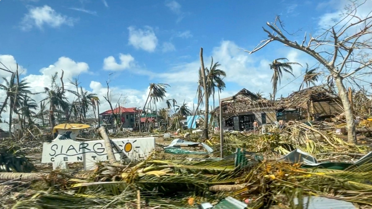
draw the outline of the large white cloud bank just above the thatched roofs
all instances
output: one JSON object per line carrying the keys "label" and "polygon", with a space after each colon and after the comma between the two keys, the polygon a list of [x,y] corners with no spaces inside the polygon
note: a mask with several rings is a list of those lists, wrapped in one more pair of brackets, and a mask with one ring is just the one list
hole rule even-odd
{"label": "large white cloud bank just above the thatched roofs", "polygon": [[[212,53],[210,54],[213,56],[214,62],[219,62],[221,64],[219,69],[224,70],[227,74],[224,81],[227,83],[227,90],[229,90],[228,92],[230,93],[230,96],[243,88],[253,92],[260,90],[268,96],[268,93],[272,92],[272,85],[270,83],[272,71],[269,67],[272,60],[255,57],[256,55],[249,55],[237,48],[240,47],[232,41],[222,41],[221,45],[213,48]],[[310,66],[314,64],[314,61],[311,60],[310,57],[307,57],[304,53],[301,54],[294,49],[284,48],[278,53],[282,54],[280,57],[288,58],[289,62],[299,62],[303,66],[305,66],[305,62],[308,62]],[[211,63],[210,55],[208,55],[207,51],[204,50],[204,63],[205,67],[208,68],[210,68]],[[162,83],[169,83],[173,88],[175,86],[176,88],[179,88],[179,86],[188,88],[191,97],[195,97],[199,67],[199,58],[195,58],[195,61],[193,62],[177,63],[171,67],[170,71],[156,74],[154,76],[160,78]],[[278,89],[281,90],[278,91],[277,95],[287,95],[292,91],[298,90],[299,84],[302,80],[302,76],[300,75],[304,71],[304,68],[301,66],[294,66],[293,68],[294,75],[296,77],[299,76],[299,78],[288,84],[290,81],[294,80],[294,77],[284,73],[282,85],[278,86]]]}

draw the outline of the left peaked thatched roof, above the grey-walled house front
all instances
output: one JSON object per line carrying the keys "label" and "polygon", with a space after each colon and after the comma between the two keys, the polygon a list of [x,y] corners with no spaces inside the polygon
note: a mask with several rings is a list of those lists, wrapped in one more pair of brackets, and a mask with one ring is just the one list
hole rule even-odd
{"label": "left peaked thatched roof, above the grey-walled house front", "polygon": [[[260,99],[256,94],[247,89],[242,89],[234,96],[222,100],[223,114],[275,109],[275,102]],[[219,107],[214,109],[214,112],[218,113],[218,111]]]}

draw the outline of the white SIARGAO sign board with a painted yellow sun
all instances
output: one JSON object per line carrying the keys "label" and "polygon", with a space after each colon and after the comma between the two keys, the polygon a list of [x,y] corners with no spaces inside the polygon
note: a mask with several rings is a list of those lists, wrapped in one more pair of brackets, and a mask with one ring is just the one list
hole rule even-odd
{"label": "white SIARGAO sign board with a painted yellow sun", "polygon": [[[71,137],[72,138],[72,137]],[[66,168],[67,163],[84,162],[86,170],[94,169],[98,161],[108,160],[103,140],[75,141],[60,135],[44,142],[41,163],[53,163],[53,169]],[[111,139],[116,160],[142,160],[155,148],[155,137]]]}

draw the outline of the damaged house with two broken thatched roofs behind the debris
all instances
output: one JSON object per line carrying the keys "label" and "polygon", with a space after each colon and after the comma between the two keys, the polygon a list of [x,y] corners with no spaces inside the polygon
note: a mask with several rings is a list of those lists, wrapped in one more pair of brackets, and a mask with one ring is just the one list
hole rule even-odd
{"label": "damaged house with two broken thatched roofs behind the debris", "polygon": [[[331,118],[343,112],[339,97],[322,86],[296,91],[281,100],[261,98],[247,89],[231,97],[221,99],[222,129],[235,131],[253,130],[253,122],[259,125],[280,119],[298,120]],[[217,107],[214,112],[219,112]]]}

